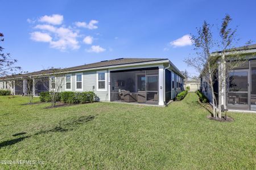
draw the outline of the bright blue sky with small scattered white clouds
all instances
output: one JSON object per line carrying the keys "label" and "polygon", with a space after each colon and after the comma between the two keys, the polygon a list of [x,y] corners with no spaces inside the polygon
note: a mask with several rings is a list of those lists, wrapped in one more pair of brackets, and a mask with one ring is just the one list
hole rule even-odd
{"label": "bright blue sky with small scattered white clouds", "polygon": [[144,57],[169,58],[178,69],[195,74],[183,62],[193,53],[185,35],[195,33],[203,20],[220,25],[225,14],[238,25],[238,45],[256,40],[255,0],[9,0],[1,6],[2,45],[24,71]]}

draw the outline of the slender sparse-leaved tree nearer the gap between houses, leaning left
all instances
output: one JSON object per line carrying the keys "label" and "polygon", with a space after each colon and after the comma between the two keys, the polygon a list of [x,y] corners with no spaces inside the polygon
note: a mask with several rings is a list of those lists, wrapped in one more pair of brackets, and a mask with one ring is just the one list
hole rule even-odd
{"label": "slender sparse-leaved tree nearer the gap between houses, leaning left", "polygon": [[188,66],[194,67],[205,80],[209,82],[212,91],[213,117],[216,117],[216,97],[213,91],[214,76],[217,71],[216,57],[211,57],[211,50],[214,42],[210,25],[204,21],[201,28],[197,28],[197,35],[193,35],[191,40],[195,46],[196,57],[187,58],[185,62]]}

